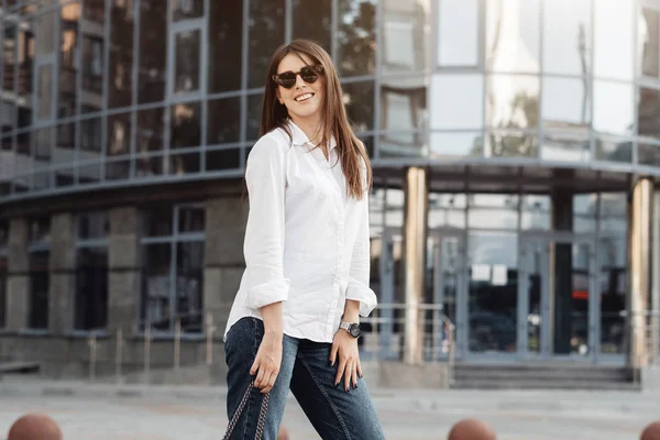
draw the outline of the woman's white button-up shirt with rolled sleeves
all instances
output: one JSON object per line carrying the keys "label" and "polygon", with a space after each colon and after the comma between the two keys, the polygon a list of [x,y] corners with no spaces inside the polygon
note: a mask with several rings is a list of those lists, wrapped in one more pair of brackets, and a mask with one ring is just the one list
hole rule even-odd
{"label": "woman's white button-up shirt with rolled sleeves", "polygon": [[285,334],[332,342],[346,299],[360,301],[363,317],[376,307],[366,185],[362,199],[349,198],[334,140],[327,160],[289,128],[293,142],[276,129],[248,157],[246,267],[224,337],[242,317],[261,319],[261,307],[283,301]]}

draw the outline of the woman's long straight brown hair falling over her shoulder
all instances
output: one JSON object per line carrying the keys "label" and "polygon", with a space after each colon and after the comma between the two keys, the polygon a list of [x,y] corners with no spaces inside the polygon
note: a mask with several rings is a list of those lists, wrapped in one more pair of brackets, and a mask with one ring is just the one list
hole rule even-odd
{"label": "woman's long straight brown hair falling over her shoulder", "polygon": [[[330,55],[318,44],[308,40],[294,40],[289,44],[279,46],[271,58],[266,76],[266,89],[262,108],[261,133],[264,135],[274,129],[283,129],[292,138],[287,122],[289,119],[287,109],[277,100],[277,84],[272,79],[277,74],[277,67],[282,59],[288,54],[294,54],[302,59],[306,55],[314,64],[323,67],[322,77],[326,85],[326,94],[322,103],[321,141],[319,145],[328,143],[331,136],[337,141],[339,161],[346,179],[346,190],[350,197],[361,199],[364,190],[371,187],[372,169],[371,162],[362,142],[355,136],[346,117],[343,106],[343,92],[339,82],[339,75]],[[363,170],[361,158],[366,168]],[[362,173],[366,173],[363,176]],[[366,179],[364,179],[366,177]],[[366,188],[363,182],[366,180]]]}

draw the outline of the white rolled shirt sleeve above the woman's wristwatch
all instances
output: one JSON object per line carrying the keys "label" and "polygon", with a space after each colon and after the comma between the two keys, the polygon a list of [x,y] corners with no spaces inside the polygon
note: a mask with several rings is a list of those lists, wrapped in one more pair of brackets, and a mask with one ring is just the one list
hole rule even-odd
{"label": "white rolled shirt sleeve above the woman's wristwatch", "polygon": [[369,287],[371,275],[369,191],[365,191],[358,205],[358,238],[351,257],[346,299],[360,301],[360,316],[367,317],[378,302],[376,294]]}

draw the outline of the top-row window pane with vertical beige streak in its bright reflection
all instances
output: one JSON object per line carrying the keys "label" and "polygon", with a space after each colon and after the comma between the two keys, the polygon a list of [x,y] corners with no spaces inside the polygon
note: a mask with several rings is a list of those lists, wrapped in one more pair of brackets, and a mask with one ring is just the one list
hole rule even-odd
{"label": "top-row window pane with vertical beige streak in its bright reflection", "polygon": [[539,72],[540,3],[540,0],[486,2],[486,69]]}

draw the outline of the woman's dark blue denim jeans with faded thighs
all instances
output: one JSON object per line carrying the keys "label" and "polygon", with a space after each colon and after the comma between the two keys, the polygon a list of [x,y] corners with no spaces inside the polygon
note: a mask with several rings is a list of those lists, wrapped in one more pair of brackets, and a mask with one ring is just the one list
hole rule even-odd
{"label": "woman's dark blue denim jeans with faded thighs", "polygon": [[[257,318],[242,318],[227,334],[227,416],[230,420],[253,380],[250,367],[263,336],[264,326]],[[277,438],[289,388],[322,439],[385,439],[364,380],[358,378],[358,388],[349,392],[344,389],[343,377],[334,387],[339,362],[330,365],[331,346],[284,336],[282,366],[268,393],[264,440]],[[260,389],[252,389],[231,439],[255,438],[263,398]]]}

